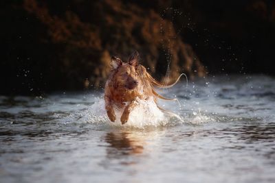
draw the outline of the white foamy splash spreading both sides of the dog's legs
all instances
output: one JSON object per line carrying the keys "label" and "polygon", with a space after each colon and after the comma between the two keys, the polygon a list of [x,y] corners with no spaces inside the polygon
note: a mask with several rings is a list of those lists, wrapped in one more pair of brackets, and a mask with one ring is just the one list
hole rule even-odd
{"label": "white foamy splash spreading both sides of the dog's legs", "polygon": [[[182,123],[200,125],[202,123],[208,123],[214,121],[207,114],[201,112],[193,112],[186,116],[179,117],[173,112],[163,112],[157,108],[157,104],[153,100],[153,97],[148,100],[136,99],[135,108],[130,112],[129,120],[122,125],[120,121],[122,110],[115,110],[116,119],[115,122],[111,122],[107,117],[105,110],[105,103],[103,97],[97,97],[93,105],[83,110],[77,110],[72,112],[66,117],[58,117],[58,121],[62,123],[94,123],[97,125],[107,125],[114,127],[133,127],[144,129],[146,127],[162,127],[162,126],[173,126]],[[175,103],[171,103],[171,105]],[[175,108],[174,108],[175,109]]]}

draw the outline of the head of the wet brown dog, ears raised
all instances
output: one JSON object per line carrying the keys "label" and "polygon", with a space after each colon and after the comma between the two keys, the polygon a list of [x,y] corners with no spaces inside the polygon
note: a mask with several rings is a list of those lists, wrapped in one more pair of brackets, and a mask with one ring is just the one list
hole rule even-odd
{"label": "head of the wet brown dog, ears raised", "polygon": [[111,67],[115,71],[113,81],[116,86],[133,90],[141,82],[139,54],[137,51],[131,54],[127,63],[122,62],[120,58],[111,57]]}

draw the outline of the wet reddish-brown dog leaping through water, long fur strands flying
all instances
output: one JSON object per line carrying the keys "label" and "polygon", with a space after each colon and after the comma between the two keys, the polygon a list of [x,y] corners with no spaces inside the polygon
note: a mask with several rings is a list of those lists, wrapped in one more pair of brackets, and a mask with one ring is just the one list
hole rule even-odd
{"label": "wet reddish-brown dog leaping through water, long fur strands flying", "polygon": [[[177,79],[177,81],[179,78]],[[174,83],[176,84],[177,81]],[[165,86],[160,84],[147,73],[144,66],[139,64],[139,55],[135,51],[129,58],[128,63],[123,63],[120,58],[111,58],[111,74],[105,85],[105,109],[111,121],[115,121],[115,112],[113,108],[123,109],[120,121],[126,123],[129,114],[135,108],[135,99],[149,99],[153,97],[154,101],[157,98],[166,99],[157,94],[153,86],[159,88],[170,88],[174,84]],[[174,99],[166,99],[174,100]]]}

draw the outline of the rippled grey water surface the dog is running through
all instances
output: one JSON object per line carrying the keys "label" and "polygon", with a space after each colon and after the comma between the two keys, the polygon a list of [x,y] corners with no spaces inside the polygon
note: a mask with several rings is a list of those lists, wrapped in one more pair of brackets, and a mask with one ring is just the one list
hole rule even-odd
{"label": "rippled grey water surface the dog is running through", "polygon": [[0,97],[0,182],[275,182],[274,77],[201,78],[162,94],[177,96],[160,106],[179,117],[150,104],[124,126],[98,92]]}

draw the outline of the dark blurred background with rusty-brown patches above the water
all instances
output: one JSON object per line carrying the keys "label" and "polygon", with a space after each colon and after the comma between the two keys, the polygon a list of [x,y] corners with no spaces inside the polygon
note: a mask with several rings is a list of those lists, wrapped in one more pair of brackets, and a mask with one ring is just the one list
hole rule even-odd
{"label": "dark blurred background with rusty-brown patches above the water", "polygon": [[275,1],[1,1],[2,95],[102,88],[134,50],[158,80],[274,75]]}

